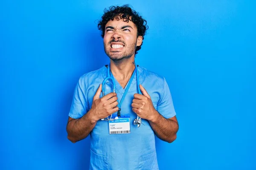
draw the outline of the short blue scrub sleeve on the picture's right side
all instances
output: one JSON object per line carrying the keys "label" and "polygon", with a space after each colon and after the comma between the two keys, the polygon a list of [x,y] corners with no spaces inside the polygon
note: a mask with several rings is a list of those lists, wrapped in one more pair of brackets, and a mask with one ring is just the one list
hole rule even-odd
{"label": "short blue scrub sleeve on the picture's right side", "polygon": [[172,95],[169,90],[169,86],[166,82],[166,79],[163,78],[164,85],[163,85],[163,92],[160,96],[160,99],[157,103],[157,111],[166,119],[172,118],[176,115],[173,102],[172,102]]}

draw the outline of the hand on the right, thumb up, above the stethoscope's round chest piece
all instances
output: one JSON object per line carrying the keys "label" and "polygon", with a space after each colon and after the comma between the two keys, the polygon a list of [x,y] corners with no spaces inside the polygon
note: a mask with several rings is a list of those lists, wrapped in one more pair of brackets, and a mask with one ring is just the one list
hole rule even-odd
{"label": "hand on the right, thumb up, above the stethoscope's round chest piece", "polygon": [[134,99],[131,104],[132,110],[140,116],[140,118],[151,121],[157,116],[158,112],[154,108],[151,97],[142,85],[140,85],[140,91],[143,95],[134,94]]}

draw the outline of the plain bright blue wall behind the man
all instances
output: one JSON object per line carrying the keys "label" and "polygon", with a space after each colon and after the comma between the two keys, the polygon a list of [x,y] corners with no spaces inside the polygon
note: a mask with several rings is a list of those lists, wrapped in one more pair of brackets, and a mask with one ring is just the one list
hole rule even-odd
{"label": "plain bright blue wall behind the man", "polygon": [[68,112],[79,77],[109,61],[97,20],[124,3],[149,26],[136,62],[166,77],[180,124],[157,139],[160,169],[256,169],[253,0],[1,1],[0,169],[88,168]]}

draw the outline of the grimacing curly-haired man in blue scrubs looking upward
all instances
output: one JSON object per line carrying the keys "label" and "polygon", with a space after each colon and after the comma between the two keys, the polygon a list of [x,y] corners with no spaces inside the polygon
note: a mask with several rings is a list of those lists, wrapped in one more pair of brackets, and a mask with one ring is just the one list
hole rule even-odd
{"label": "grimacing curly-haired man in blue scrubs looking upward", "polygon": [[[67,138],[75,143],[90,133],[91,170],[157,170],[155,134],[171,143],[178,123],[166,80],[135,65],[146,21],[128,5],[112,6],[98,28],[110,65],[80,77]],[[109,80],[102,88],[107,77],[114,82]],[[111,84],[116,84],[115,92],[103,96],[102,89],[112,88]]]}

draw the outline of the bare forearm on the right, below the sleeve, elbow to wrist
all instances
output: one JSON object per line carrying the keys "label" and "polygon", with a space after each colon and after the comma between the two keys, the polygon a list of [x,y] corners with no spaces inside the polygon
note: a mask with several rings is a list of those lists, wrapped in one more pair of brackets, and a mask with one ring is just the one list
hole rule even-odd
{"label": "bare forearm on the right, below the sleeve, elbow to wrist", "polygon": [[163,141],[171,143],[176,139],[179,128],[177,122],[164,118],[156,111],[154,118],[149,123],[156,135]]}

